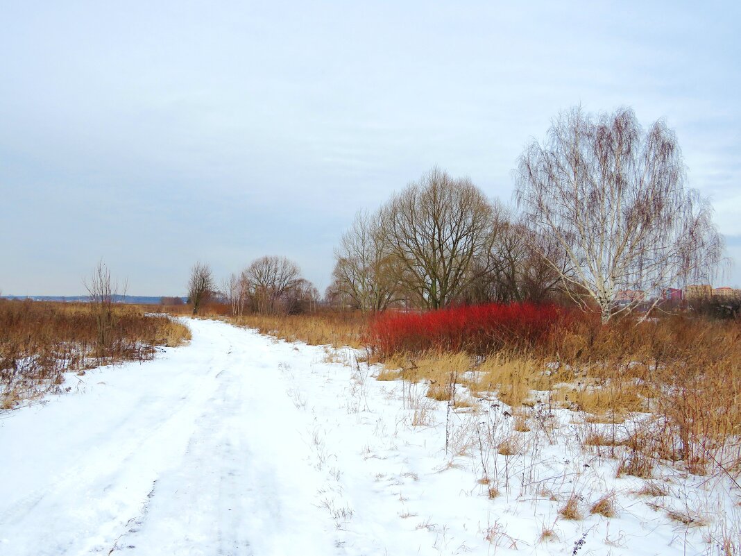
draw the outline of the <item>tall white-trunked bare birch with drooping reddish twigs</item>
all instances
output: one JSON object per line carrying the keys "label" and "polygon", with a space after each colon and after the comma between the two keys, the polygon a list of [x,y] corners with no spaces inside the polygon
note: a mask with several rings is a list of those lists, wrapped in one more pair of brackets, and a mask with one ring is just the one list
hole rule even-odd
{"label": "tall white-trunked bare birch with drooping reddish twigs", "polygon": [[[566,291],[583,307],[591,299],[608,322],[644,294],[708,276],[720,262],[711,207],[684,181],[677,137],[664,122],[643,133],[630,109],[592,116],[576,107],[520,156],[516,199],[568,258],[565,273],[544,253]],[[618,305],[621,291],[644,294]]]}

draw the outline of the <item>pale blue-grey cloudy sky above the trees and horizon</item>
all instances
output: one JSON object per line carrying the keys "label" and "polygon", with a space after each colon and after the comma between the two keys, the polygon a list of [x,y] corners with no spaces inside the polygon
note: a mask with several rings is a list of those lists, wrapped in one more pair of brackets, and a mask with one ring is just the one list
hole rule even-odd
{"label": "pale blue-grey cloudy sky above the trees and horizon", "polygon": [[0,4],[0,290],[182,294],[263,254],[319,288],[353,214],[432,165],[511,199],[564,108],[677,130],[741,284],[741,4]]}

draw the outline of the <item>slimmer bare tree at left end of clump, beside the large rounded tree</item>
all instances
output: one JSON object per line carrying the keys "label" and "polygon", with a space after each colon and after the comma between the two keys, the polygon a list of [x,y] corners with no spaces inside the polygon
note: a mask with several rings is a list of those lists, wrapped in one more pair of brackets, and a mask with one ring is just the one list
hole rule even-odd
{"label": "slimmer bare tree at left end of clump, beside the large rounded tree", "polygon": [[334,256],[333,295],[351,299],[363,313],[383,311],[396,298],[393,257],[379,213],[357,213]]}

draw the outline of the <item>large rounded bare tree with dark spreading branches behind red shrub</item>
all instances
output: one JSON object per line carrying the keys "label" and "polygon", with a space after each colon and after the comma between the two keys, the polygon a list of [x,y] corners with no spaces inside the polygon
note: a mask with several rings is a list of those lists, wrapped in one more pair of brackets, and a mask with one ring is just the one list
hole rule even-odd
{"label": "large rounded bare tree with dark spreading branches behind red shrub", "polygon": [[396,281],[419,305],[439,308],[480,274],[499,232],[499,211],[471,179],[433,168],[382,209]]}

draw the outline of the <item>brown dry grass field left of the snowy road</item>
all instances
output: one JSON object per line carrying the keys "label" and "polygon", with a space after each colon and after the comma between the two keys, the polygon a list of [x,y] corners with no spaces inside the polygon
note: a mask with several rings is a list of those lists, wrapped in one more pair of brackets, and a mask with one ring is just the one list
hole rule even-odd
{"label": "brown dry grass field left of the snowy road", "polygon": [[147,360],[156,345],[190,340],[185,325],[152,309],[112,305],[101,334],[95,304],[0,299],[0,406],[57,388],[64,371]]}

